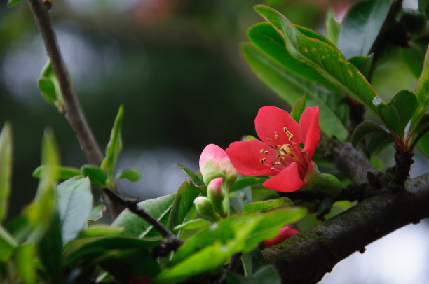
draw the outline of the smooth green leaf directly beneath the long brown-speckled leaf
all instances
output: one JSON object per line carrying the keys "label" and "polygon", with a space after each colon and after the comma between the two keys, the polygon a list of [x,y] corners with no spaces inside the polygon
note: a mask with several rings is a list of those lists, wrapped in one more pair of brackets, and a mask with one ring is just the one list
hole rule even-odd
{"label": "smooth green leaf directly beneath the long brown-speckled leaf", "polygon": [[[273,24],[274,27],[266,22],[254,24],[247,31],[247,37],[252,41],[252,43],[257,45],[258,48],[263,50],[267,55],[285,67],[287,71],[292,72],[295,76],[320,83],[327,87],[328,90],[338,92],[336,87],[334,87],[329,80],[321,76],[320,73],[318,73],[318,71],[316,71],[312,66],[300,61],[291,54],[290,50],[286,48],[285,39],[282,38],[281,34],[279,34],[278,29],[281,28],[281,25],[276,25],[275,21],[270,23]],[[299,94],[299,97],[301,97],[301,94]],[[299,98],[294,99],[293,101],[297,101],[298,99]],[[290,102],[288,103],[290,104]]]}

